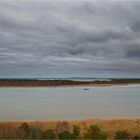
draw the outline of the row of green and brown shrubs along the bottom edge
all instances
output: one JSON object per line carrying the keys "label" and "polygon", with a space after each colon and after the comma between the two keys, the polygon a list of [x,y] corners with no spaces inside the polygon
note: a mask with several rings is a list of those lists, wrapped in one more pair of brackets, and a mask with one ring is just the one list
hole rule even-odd
{"label": "row of green and brown shrubs along the bottom edge", "polygon": [[[78,125],[69,126],[68,122],[58,122],[54,129],[40,125],[21,123],[20,126],[0,125],[0,139],[107,139],[108,135],[96,124],[85,127],[81,133]],[[119,130],[113,139],[140,139],[140,135],[131,136],[127,130]]]}

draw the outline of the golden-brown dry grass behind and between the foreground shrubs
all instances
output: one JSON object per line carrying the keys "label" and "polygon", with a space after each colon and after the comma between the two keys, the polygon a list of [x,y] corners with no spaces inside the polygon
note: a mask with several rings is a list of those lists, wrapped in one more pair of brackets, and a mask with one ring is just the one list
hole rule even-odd
{"label": "golden-brown dry grass behind and between the foreground shrubs", "polygon": [[[56,129],[56,124],[60,121],[45,121],[45,122],[28,122],[31,126],[38,126],[42,129]],[[90,125],[97,124],[102,131],[108,134],[109,138],[113,138],[118,130],[127,130],[130,135],[140,135],[140,119],[114,119],[114,120],[83,120],[83,121],[67,121],[70,128],[73,125],[78,125],[81,128],[81,135],[87,130]],[[0,122],[2,127],[19,127],[23,122]]]}

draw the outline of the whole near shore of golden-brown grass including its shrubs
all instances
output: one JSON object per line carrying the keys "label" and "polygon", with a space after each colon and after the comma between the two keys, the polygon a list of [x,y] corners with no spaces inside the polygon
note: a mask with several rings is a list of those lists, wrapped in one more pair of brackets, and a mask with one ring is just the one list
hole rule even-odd
{"label": "whole near shore of golden-brown grass including its shrubs", "polygon": [[140,119],[0,122],[1,139],[140,139]]}

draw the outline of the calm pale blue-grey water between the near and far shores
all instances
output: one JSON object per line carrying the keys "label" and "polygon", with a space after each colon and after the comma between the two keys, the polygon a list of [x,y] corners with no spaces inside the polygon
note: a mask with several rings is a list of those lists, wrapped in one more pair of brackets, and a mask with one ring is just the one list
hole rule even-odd
{"label": "calm pale blue-grey water between the near and far shores", "polygon": [[0,121],[140,118],[140,87],[0,88]]}

